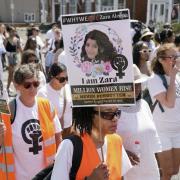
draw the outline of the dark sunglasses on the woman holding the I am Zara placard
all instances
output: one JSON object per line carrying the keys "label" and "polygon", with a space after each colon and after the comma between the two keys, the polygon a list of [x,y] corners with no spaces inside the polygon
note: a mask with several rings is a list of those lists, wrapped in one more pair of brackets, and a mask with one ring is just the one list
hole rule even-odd
{"label": "dark sunglasses on the woman holding the I am Zara placard", "polygon": [[[94,111],[95,114],[99,114],[99,111]],[[116,116],[118,119],[121,116],[121,110],[117,110],[115,112],[100,112],[100,116],[103,119],[112,121],[114,119],[114,116]]]}

